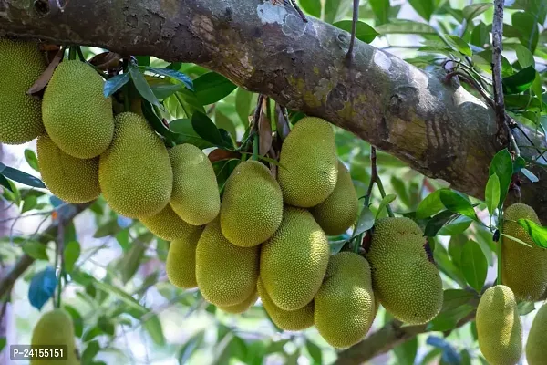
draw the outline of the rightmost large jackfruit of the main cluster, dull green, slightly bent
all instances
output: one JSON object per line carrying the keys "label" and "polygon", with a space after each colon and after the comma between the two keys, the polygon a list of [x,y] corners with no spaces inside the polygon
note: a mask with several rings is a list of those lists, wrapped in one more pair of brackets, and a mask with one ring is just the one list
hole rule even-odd
{"label": "rightmost large jackfruit of the main cluster, dull green, slightly bent", "polygon": [[442,281],[426,251],[427,240],[408,218],[377,221],[366,259],[380,303],[393,317],[424,324],[442,307]]}

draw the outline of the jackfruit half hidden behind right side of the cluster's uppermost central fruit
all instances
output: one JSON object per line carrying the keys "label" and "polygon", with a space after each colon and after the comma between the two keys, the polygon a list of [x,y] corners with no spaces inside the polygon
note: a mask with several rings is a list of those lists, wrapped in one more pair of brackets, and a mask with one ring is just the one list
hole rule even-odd
{"label": "jackfruit half hidden behind right side of the cluster's uppermost central fruit", "polygon": [[342,235],[357,219],[359,202],[351,175],[343,162],[338,162],[338,178],[333,193],[312,209],[315,221],[326,235]]}

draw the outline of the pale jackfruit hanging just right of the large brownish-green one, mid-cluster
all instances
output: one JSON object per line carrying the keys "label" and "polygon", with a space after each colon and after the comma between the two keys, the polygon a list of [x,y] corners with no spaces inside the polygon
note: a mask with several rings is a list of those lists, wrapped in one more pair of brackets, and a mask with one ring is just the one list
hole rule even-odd
{"label": "pale jackfruit hanging just right of the large brownish-green one, mid-cluster", "polygon": [[221,209],[211,162],[205,153],[191,144],[175,146],[169,155],[173,168],[171,207],[189,224],[208,224]]}

